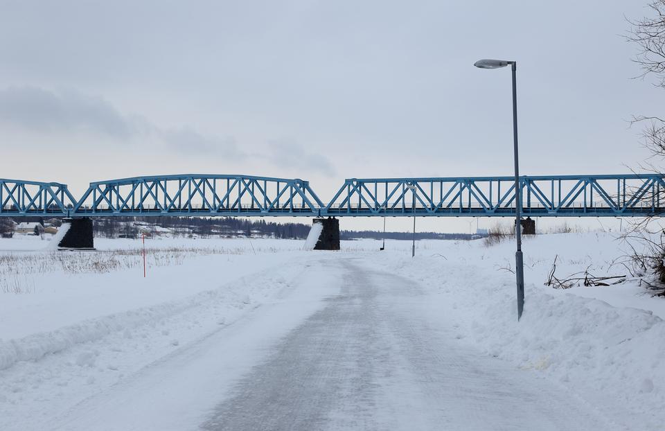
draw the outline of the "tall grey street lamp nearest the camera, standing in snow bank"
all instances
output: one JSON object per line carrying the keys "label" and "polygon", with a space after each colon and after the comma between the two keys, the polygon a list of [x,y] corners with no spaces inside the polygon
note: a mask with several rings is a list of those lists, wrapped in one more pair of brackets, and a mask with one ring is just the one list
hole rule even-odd
{"label": "tall grey street lamp nearest the camera, standing in snow bank", "polygon": [[517,252],[515,252],[515,277],[517,278],[517,320],[522,317],[524,310],[524,261],[522,258],[522,223],[520,211],[522,210],[522,191],[520,190],[520,163],[517,158],[517,62],[506,60],[478,60],[473,65],[480,69],[498,69],[508,64],[513,69],[513,142],[515,151],[515,238],[517,238]]}

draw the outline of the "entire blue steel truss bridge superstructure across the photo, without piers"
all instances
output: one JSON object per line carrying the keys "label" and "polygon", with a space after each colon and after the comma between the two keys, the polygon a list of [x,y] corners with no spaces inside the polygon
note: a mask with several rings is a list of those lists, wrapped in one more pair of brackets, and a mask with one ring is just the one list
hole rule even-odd
{"label": "entire blue steel truss bridge superstructure across the photo, without piers", "polygon": [[[534,217],[641,217],[665,210],[665,176],[520,177],[522,213]],[[302,179],[161,175],[67,185],[0,179],[0,216],[430,216],[515,215],[514,177],[346,179],[324,204]]]}

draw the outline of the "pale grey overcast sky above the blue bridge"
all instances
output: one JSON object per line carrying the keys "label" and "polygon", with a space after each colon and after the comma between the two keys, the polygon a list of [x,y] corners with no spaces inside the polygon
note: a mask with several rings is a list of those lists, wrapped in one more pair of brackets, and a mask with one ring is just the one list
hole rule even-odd
{"label": "pale grey overcast sky above the blue bridge", "polygon": [[480,58],[523,175],[626,173],[647,1],[0,1],[0,177],[511,175]]}

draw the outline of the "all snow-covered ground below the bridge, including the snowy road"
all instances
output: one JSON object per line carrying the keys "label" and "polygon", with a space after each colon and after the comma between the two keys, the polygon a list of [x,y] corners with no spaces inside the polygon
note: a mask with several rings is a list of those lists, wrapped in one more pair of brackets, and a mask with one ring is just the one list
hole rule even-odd
{"label": "all snow-covered ground below the bridge, including the snowy road", "polygon": [[[612,234],[526,238],[519,323],[514,242],[419,241],[416,258],[410,242],[387,241],[383,252],[380,244],[346,241],[340,252],[316,252],[296,240],[146,240],[144,278],[139,240],[96,239],[96,252],[57,252],[37,237],[2,239],[0,430],[234,429],[238,405],[270,410],[252,398],[263,390],[252,385],[280,374],[270,371],[275,361],[339,365],[287,355],[290,343],[321,340],[337,343],[326,348],[340,351],[349,375],[371,364],[372,378],[358,375],[369,379],[371,396],[341,405],[323,397],[328,410],[308,404],[318,424],[310,429],[433,429],[437,397],[450,403],[447,429],[663,429],[665,299],[631,280],[544,285],[555,256],[558,276],[626,274],[614,263],[626,245]],[[375,350],[353,340],[373,340]],[[400,340],[422,342],[402,349]],[[468,396],[489,407],[472,412],[459,401],[466,392],[452,385],[443,396],[445,387],[432,387],[450,382],[437,373],[452,366],[439,360],[462,367],[460,379],[486,372],[487,387],[477,389],[484,396]],[[334,381],[335,393],[350,391],[351,380]],[[242,392],[247,385],[253,389]],[[511,392],[529,399],[504,403]],[[516,408],[529,410],[531,423],[497,424]],[[297,416],[270,418],[279,414]]]}

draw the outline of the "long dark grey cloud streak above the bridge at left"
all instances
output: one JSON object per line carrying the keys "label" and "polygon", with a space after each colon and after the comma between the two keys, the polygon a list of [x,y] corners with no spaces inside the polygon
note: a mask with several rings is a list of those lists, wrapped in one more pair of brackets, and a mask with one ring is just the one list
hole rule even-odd
{"label": "long dark grey cloud streak above the bridge at left", "polygon": [[[0,124],[38,134],[76,134],[109,137],[118,141],[152,141],[157,138],[166,150],[186,155],[209,155],[241,160],[250,155],[236,139],[203,134],[189,125],[159,127],[145,118],[123,114],[99,96],[78,91],[50,91],[39,87],[9,87],[0,90]],[[328,159],[288,140],[269,141],[268,155],[253,155],[284,168],[318,171],[334,175]]]}

